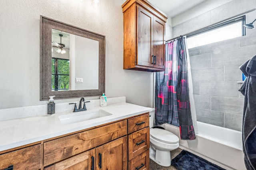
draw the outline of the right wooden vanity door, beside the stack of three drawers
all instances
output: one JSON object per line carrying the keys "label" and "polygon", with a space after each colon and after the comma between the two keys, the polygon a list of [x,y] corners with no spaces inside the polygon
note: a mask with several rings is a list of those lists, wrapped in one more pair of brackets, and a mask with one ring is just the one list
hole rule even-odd
{"label": "right wooden vanity door, beside the stack of three drawers", "polygon": [[127,170],[127,136],[96,148],[96,170]]}

